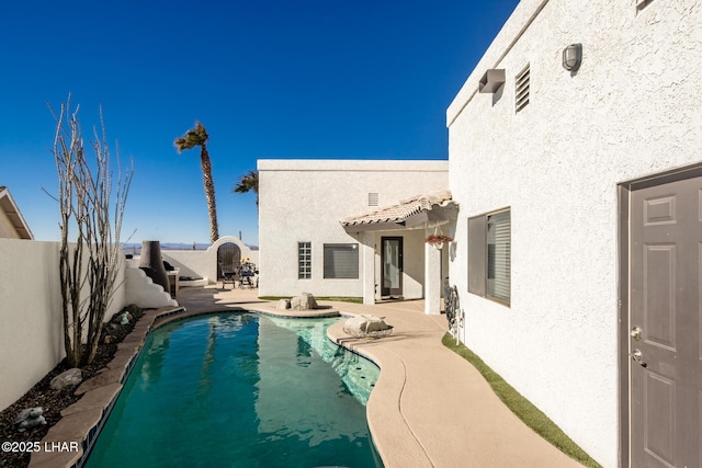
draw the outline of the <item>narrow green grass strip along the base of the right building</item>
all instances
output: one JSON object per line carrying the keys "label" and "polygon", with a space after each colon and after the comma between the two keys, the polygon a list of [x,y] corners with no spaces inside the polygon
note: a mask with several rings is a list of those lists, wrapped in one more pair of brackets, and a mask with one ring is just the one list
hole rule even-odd
{"label": "narrow green grass strip along the base of the right building", "polygon": [[507,408],[534,432],[586,467],[600,467],[600,465],[573,442],[561,427],[551,421],[539,408],[534,407],[528,399],[514,390],[511,385],[506,383],[499,374],[485,364],[475,353],[468,350],[463,343],[456,345],[456,341],[451,333],[446,333],[443,336],[442,343],[478,369],[492,388],[492,391],[502,400]]}

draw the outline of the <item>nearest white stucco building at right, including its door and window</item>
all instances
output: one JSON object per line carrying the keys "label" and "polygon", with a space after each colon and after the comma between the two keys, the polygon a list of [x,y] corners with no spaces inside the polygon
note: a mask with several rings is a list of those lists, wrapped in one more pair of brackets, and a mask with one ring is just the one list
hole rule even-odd
{"label": "nearest white stucco building at right, including its door and window", "polygon": [[446,113],[461,339],[603,466],[702,466],[702,4],[522,0]]}

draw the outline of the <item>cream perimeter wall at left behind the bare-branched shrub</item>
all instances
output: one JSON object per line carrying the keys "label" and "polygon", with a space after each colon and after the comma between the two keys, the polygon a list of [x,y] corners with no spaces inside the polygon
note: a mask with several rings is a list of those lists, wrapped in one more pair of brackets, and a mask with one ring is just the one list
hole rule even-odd
{"label": "cream perimeter wall at left behind the bare-branched shrub", "polygon": [[[66,356],[59,248],[58,242],[0,239],[0,410]],[[124,307],[124,263],[105,320]]]}

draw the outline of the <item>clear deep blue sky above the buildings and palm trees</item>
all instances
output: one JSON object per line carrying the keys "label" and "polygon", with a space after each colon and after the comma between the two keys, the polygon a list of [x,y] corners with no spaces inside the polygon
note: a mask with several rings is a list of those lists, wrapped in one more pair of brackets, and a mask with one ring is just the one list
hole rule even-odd
{"label": "clear deep blue sky above the buildings and palm trees", "polygon": [[133,158],[123,241],[207,242],[201,121],[219,233],[258,243],[257,159],[446,159],[445,110],[518,0],[11,1],[0,15],[0,185],[57,240],[47,109],[70,92],[86,138]]}

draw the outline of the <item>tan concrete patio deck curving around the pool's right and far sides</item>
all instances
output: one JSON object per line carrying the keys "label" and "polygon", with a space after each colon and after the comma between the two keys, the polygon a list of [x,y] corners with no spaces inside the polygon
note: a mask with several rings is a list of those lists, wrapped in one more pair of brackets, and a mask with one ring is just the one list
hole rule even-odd
{"label": "tan concrete patio deck curving around the pool's right and far sides", "polygon": [[[257,294],[258,289],[210,286],[182,289],[178,300],[188,315],[227,309],[274,312],[274,304],[259,300]],[[342,315],[386,317],[394,327],[393,335],[378,340],[351,338],[342,323],[328,332],[381,367],[366,415],[386,467],[580,466],[522,423],[475,367],[441,343],[445,316],[424,315],[423,301],[319,303]]]}

